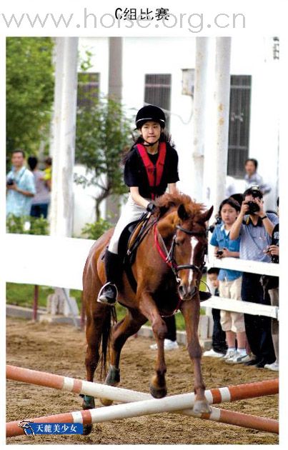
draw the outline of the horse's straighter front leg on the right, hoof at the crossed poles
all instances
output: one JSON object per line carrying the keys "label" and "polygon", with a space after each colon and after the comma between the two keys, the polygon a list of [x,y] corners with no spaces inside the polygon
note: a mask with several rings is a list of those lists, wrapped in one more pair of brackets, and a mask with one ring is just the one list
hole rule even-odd
{"label": "horse's straighter front leg on the right, hoof at the crossed poles", "polygon": [[200,314],[199,296],[194,299],[183,301],[181,311],[184,316],[186,333],[187,333],[187,349],[189,356],[194,364],[194,412],[204,413],[211,412],[208,401],[205,397],[205,384],[202,378],[201,356],[202,349],[198,338],[198,324]]}

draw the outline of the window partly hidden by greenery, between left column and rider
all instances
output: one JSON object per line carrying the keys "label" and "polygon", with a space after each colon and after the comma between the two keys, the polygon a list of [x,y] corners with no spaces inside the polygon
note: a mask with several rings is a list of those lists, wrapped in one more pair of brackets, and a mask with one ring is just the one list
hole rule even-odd
{"label": "window partly hidden by greenery, between left column and rider", "polygon": [[79,72],[77,106],[91,108],[99,99],[99,80],[100,74]]}

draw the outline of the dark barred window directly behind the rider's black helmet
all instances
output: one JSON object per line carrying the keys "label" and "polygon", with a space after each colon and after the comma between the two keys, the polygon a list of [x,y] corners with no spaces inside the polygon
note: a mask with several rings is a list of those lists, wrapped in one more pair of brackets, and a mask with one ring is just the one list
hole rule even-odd
{"label": "dark barred window directly behind the rider's black helmet", "polygon": [[169,129],[171,106],[171,74],[147,74],[145,75],[144,102],[164,109],[166,115],[166,126]]}

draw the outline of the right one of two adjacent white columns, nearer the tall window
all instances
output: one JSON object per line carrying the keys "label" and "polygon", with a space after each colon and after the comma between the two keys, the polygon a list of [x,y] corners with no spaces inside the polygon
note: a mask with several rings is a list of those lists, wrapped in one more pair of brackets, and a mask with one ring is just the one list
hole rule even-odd
{"label": "right one of two adjacent white columns, nearer the tall window", "polygon": [[228,159],[231,38],[216,39],[214,141],[212,145],[211,202],[217,212],[225,198]]}

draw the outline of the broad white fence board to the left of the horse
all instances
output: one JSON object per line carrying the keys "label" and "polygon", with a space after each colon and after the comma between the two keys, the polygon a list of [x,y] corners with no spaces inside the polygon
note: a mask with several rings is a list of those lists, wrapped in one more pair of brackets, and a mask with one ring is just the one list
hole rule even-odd
{"label": "broad white fence board to the left of the horse", "polygon": [[82,289],[82,272],[94,241],[6,234],[5,280],[66,289]]}

